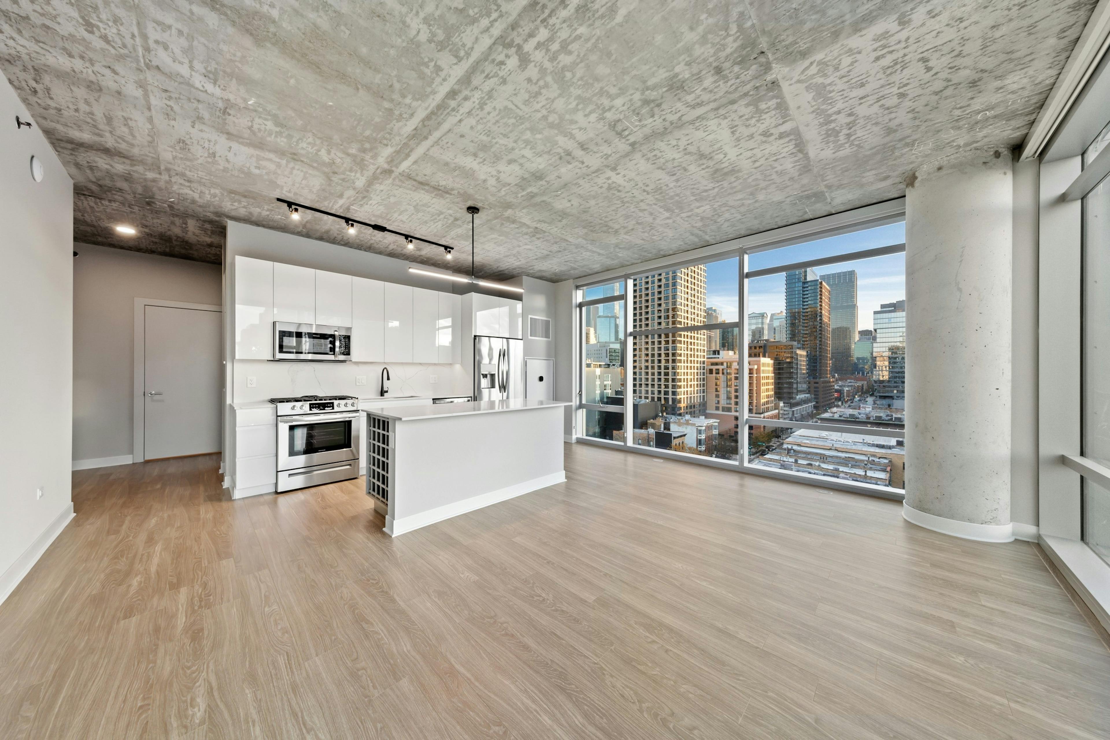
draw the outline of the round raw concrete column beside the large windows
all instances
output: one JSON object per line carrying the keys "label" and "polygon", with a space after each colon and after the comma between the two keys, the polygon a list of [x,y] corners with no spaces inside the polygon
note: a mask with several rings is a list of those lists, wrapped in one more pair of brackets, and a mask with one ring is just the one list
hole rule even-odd
{"label": "round raw concrete column beside the large windows", "polygon": [[998,148],[935,160],[906,182],[902,514],[993,542],[1013,539],[1012,179]]}

